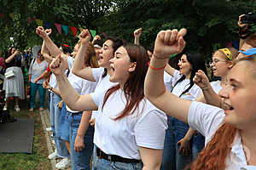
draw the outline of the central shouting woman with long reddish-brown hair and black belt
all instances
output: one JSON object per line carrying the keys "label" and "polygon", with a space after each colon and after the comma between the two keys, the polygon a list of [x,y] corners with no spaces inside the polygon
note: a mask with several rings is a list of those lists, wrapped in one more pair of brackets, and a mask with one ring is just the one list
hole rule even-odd
{"label": "central shouting woman with long reddish-brown hair and black belt", "polygon": [[[90,39],[90,33],[84,37]],[[57,57],[50,68],[57,77],[62,99],[73,110],[98,110],[94,143],[100,159],[96,169],[159,169],[166,114],[144,98],[147,51],[135,44],[118,48],[110,59],[109,80],[119,84],[105,92],[96,90],[82,96],[67,81],[61,60],[61,56]]]}

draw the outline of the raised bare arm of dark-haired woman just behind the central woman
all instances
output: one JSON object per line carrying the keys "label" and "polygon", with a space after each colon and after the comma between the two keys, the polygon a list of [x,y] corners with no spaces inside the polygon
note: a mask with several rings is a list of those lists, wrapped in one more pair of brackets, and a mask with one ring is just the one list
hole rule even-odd
{"label": "raised bare arm of dark-haired woman just behind the central woman", "polygon": [[86,54],[86,50],[90,41],[90,32],[88,30],[83,30],[79,35],[79,39],[81,41],[81,46],[79,48],[78,54],[74,59],[72,72],[78,77],[82,77],[91,82],[96,82],[95,78],[92,75],[91,68],[84,67],[84,56],[88,57]]}

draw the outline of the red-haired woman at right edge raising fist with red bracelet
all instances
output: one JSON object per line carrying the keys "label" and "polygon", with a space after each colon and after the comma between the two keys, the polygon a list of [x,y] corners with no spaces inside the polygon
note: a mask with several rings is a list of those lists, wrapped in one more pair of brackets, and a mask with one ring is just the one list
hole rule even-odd
{"label": "red-haired woman at right edge raising fist with red bracelet", "polygon": [[[183,29],[160,31],[154,45],[154,56],[157,57],[152,58],[150,66],[162,68],[166,65],[166,56],[182,52],[185,33]],[[189,122],[190,127],[206,136],[206,148],[192,164],[192,170],[256,169],[255,65],[254,54],[244,57],[231,68],[227,84],[219,92],[226,111],[177,98],[165,89],[162,78],[164,71],[148,69],[144,89],[146,97],[161,111]],[[200,74],[197,73],[195,79],[201,86]],[[210,89],[201,88],[203,91]],[[213,90],[211,93],[214,93]],[[207,100],[207,103],[211,103],[211,100],[214,99]]]}

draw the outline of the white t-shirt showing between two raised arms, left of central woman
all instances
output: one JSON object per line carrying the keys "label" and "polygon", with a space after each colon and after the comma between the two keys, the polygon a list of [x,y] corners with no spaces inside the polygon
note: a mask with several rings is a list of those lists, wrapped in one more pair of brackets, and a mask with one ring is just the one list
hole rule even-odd
{"label": "white t-shirt showing between two raised arms, left of central woman", "polygon": [[[70,71],[69,76],[67,77],[68,81],[71,83],[72,87],[75,88],[75,90],[80,94],[90,94],[93,93],[96,88],[97,82],[90,82],[85,80],[84,78],[77,77]],[[79,112],[79,111],[73,111],[66,105],[67,111],[69,112]]]}

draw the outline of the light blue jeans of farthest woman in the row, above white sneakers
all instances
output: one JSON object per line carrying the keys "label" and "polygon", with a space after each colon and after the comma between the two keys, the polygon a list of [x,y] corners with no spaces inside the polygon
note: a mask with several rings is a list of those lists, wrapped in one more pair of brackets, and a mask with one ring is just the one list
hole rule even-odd
{"label": "light blue jeans of farthest woman in the row, above white sneakers", "polygon": [[57,156],[68,157],[68,150],[61,137],[58,135],[59,125],[61,122],[61,110],[57,107],[57,104],[61,101],[61,98],[54,93],[50,93],[49,113],[50,113],[50,127],[52,129],[53,137],[55,139],[55,145],[57,150]]}

